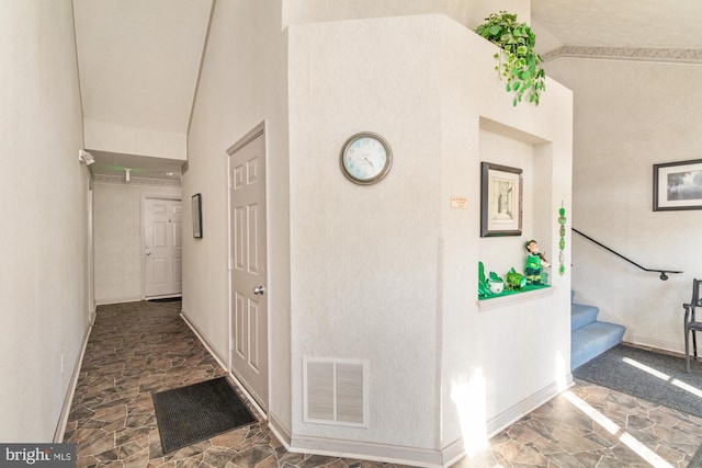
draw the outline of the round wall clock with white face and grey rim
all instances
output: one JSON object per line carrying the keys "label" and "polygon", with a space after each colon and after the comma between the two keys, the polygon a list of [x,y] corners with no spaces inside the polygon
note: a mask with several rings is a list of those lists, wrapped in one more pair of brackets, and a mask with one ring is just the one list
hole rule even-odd
{"label": "round wall clock with white face and grey rim", "polygon": [[393,165],[393,151],[382,136],[372,132],[352,135],[341,147],[341,172],[351,182],[369,185],[381,181]]}

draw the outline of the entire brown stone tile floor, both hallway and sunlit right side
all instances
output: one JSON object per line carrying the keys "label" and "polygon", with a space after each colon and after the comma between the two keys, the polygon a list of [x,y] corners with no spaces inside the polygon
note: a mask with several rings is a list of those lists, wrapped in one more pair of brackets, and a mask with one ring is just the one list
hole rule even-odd
{"label": "entire brown stone tile floor, both hallway and sunlit right side", "polygon": [[[180,301],[98,308],[65,433],[78,467],[398,466],[288,453],[264,421],[165,456],[151,393],[226,375],[180,309]],[[701,419],[576,381],[455,467],[684,468],[701,444]]]}

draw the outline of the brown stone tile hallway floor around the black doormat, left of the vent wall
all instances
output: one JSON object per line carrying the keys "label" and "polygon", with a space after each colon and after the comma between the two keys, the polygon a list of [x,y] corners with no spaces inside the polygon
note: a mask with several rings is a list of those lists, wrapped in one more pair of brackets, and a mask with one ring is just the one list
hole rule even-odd
{"label": "brown stone tile hallway floor around the black doormat, left of the vent wall", "polygon": [[227,375],[180,310],[180,300],[99,306],[64,436],[78,467],[396,466],[287,453],[265,422],[165,457],[151,393]]}

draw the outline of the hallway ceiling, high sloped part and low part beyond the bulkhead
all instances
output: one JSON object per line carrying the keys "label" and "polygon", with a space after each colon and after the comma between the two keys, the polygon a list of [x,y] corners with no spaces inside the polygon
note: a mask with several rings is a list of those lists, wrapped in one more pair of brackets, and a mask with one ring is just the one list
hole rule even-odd
{"label": "hallway ceiling, high sloped part and low part beyond the bulkhead", "polygon": [[[73,0],[83,118],[185,135],[212,0]],[[93,174],[180,178],[183,161],[95,151]]]}

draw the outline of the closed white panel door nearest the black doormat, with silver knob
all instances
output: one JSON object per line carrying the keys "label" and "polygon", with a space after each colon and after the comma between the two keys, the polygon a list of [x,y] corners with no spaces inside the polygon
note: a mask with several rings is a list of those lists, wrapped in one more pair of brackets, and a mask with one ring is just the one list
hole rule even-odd
{"label": "closed white panel door nearest the black doormat, with silver knob", "polygon": [[230,363],[268,409],[268,282],[265,274],[265,144],[258,135],[229,156]]}

